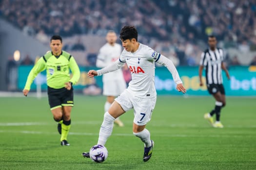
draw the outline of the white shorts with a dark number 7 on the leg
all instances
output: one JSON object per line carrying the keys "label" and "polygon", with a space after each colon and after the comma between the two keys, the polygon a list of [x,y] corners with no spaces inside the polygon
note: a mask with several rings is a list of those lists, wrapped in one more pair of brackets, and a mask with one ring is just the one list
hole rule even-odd
{"label": "white shorts with a dark number 7 on the leg", "polygon": [[115,101],[121,105],[125,112],[134,108],[133,122],[139,126],[142,126],[150,121],[152,112],[157,102],[157,97],[134,97],[126,89],[120,96],[115,99]]}

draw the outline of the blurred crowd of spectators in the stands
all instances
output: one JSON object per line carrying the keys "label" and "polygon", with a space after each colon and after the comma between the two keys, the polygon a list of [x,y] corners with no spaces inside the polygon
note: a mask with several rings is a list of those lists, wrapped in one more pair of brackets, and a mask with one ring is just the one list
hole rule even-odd
{"label": "blurred crowd of spectators in the stands", "polygon": [[[210,34],[222,48],[256,51],[255,0],[1,0],[0,15],[42,42],[134,25],[141,43],[176,65],[197,66]],[[82,42],[72,46],[86,51]]]}

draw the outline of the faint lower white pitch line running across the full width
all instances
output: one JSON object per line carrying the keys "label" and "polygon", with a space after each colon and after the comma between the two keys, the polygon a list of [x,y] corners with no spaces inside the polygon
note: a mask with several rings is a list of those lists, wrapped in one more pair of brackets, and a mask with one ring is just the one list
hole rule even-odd
{"label": "faint lower white pitch line running across the full width", "polygon": [[[0,133],[20,133],[20,134],[40,134],[40,135],[57,135],[57,133],[49,133],[49,132],[40,132],[40,131],[4,131],[0,130]],[[69,135],[76,135],[76,136],[98,136],[98,133],[77,133],[77,132],[70,132]],[[134,136],[133,134],[115,134],[113,133],[112,136]],[[228,137],[228,138],[244,138],[245,136],[239,135],[186,135],[186,134],[152,134],[152,136],[165,136],[165,137]],[[255,135],[246,135],[246,138],[255,138]]]}

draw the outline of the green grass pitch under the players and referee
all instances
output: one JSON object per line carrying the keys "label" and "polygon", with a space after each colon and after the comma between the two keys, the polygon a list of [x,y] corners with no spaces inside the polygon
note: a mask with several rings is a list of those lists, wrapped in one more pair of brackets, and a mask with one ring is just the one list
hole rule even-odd
{"label": "green grass pitch under the players and referee", "polygon": [[256,170],[256,98],[228,97],[223,129],[210,127],[203,114],[211,96],[158,96],[147,125],[155,141],[142,161],[143,143],[133,136],[133,111],[121,116],[106,143],[108,158],[83,158],[97,143],[105,97],[75,95],[69,147],[60,146],[57,123],[47,98],[0,98],[0,170]]}

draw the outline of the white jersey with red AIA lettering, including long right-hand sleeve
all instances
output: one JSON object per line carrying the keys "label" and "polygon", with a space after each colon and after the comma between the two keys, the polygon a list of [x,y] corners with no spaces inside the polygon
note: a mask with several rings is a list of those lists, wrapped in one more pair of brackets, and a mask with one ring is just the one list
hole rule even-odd
{"label": "white jersey with red AIA lettering, including long right-hand sleeve", "polygon": [[155,62],[163,65],[172,72],[177,84],[182,83],[173,63],[150,47],[139,44],[138,50],[128,52],[123,50],[119,59],[126,62],[132,74],[128,91],[141,98],[152,98],[157,95],[155,87]]}

